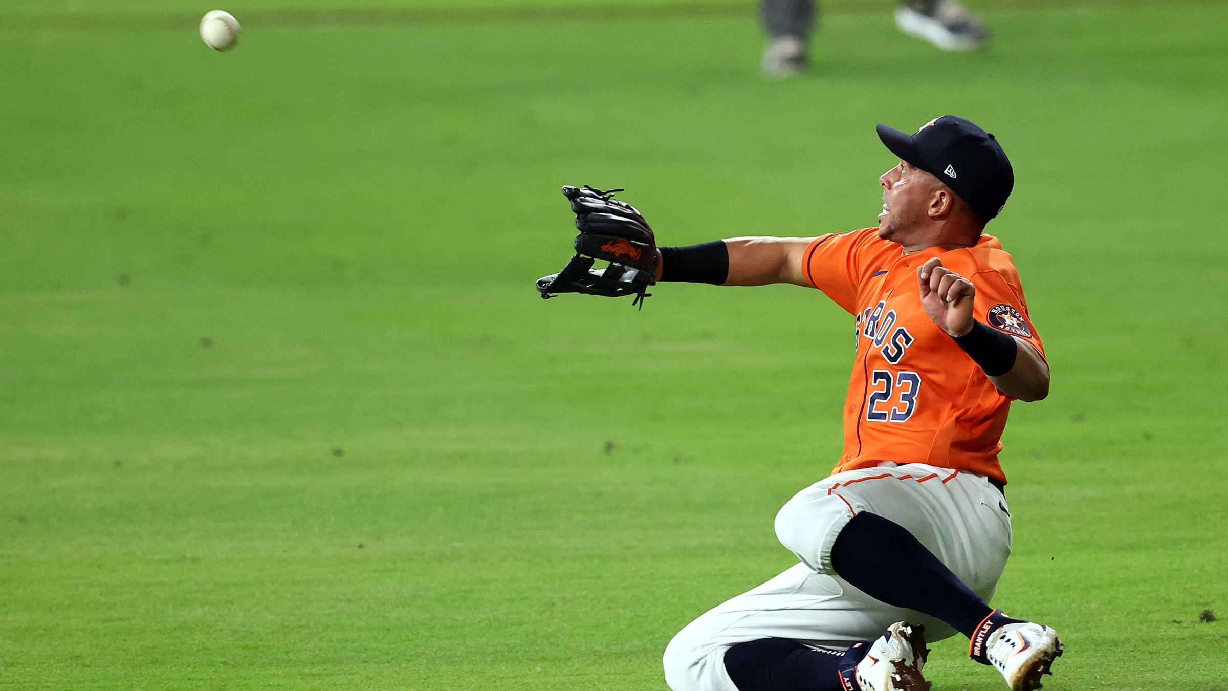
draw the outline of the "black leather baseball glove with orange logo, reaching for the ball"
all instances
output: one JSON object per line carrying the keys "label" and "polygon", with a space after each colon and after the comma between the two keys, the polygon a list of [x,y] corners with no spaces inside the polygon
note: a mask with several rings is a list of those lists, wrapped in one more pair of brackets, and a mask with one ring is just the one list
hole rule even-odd
{"label": "black leather baseball glove with orange logo, reaching for the ball", "polygon": [[[643,307],[646,289],[656,283],[657,241],[652,227],[635,207],[614,199],[621,189],[593,189],[566,186],[562,194],[576,214],[576,253],[555,274],[542,277],[537,289],[543,299],[560,293],[583,293],[605,298],[635,295],[631,305]],[[594,269],[593,262],[609,266]]]}

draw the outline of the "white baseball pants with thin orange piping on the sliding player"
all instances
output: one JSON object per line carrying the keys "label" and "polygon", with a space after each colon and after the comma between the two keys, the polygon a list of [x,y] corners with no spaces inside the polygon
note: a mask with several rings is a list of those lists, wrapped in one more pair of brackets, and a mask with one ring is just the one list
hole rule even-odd
{"label": "white baseball pants with thin orange piping on the sliding player", "polygon": [[[831,546],[862,511],[904,526],[986,602],[993,596],[1011,555],[1011,515],[987,478],[926,464],[836,473],[798,492],[776,515],[776,537],[801,562],[709,610],[669,642],[669,687],[738,691],[725,671],[725,652],[760,638],[842,652],[898,621],[925,625],[928,641],[953,636],[946,623],[874,600],[833,572]],[[900,563],[899,577],[909,578],[909,564]]]}

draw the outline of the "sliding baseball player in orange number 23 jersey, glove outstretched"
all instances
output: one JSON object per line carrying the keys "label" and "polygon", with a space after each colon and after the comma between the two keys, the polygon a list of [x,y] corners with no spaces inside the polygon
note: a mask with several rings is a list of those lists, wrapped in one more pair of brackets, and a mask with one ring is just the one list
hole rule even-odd
{"label": "sliding baseball player in orange number 23 jersey, glove outstretched", "polygon": [[[564,272],[538,282],[545,296],[642,300],[652,278],[793,283],[856,318],[844,454],[776,515],[798,562],[674,636],[674,691],[923,691],[926,638],[955,633],[1030,691],[1062,653],[1052,628],[986,604],[1011,555],[1002,429],[1012,401],[1049,392],[1019,274],[984,232],[1011,194],[1011,164],[954,116],[912,135],[879,124],[878,136],[899,157],[879,177],[878,226],[840,235],[657,248],[634,207],[564,188],[581,235]],[[620,263],[589,272],[586,253]]]}

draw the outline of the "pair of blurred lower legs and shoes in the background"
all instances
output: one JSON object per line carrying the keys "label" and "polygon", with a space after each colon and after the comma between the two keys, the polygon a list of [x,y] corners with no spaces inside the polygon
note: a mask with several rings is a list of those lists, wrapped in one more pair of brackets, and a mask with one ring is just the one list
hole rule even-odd
{"label": "pair of blurred lower legs and shoes in the background", "polygon": [[[814,0],[761,0],[759,15],[770,42],[763,69],[768,76],[788,76],[806,69],[818,7]],[[973,50],[989,38],[985,23],[955,0],[904,0],[895,26],[943,50]]]}

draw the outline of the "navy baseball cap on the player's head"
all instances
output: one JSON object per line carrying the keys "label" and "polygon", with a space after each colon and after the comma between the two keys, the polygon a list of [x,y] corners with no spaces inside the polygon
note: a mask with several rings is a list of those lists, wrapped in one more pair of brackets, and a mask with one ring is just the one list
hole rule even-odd
{"label": "navy baseball cap on the player's head", "polygon": [[878,123],[878,138],[901,160],[937,177],[989,221],[1014,187],[1011,160],[992,134],[955,116],[935,118],[905,134]]}

